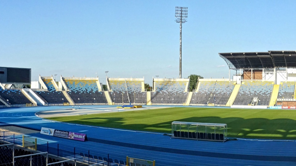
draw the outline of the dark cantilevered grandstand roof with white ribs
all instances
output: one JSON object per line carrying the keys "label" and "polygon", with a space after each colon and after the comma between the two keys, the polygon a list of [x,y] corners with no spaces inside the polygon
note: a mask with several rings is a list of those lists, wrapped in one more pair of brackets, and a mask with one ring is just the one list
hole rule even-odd
{"label": "dark cantilevered grandstand roof with white ribs", "polygon": [[296,67],[296,51],[219,53],[230,69]]}

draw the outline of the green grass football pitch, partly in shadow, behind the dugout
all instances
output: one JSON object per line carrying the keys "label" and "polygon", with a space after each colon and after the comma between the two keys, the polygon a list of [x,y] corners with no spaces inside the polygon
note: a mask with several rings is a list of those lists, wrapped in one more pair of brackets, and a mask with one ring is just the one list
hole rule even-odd
{"label": "green grass football pitch, partly in shadow, behind the dugout", "polygon": [[170,107],[47,119],[162,133],[171,133],[173,121],[226,123],[228,137],[296,139],[296,110]]}

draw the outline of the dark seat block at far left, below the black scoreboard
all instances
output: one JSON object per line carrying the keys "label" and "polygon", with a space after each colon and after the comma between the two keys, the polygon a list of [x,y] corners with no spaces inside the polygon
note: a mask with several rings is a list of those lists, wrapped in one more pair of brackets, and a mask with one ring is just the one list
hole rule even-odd
{"label": "dark seat block at far left, below the black scoreboard", "polygon": [[6,89],[0,90],[0,96],[12,105],[32,103],[20,90]]}

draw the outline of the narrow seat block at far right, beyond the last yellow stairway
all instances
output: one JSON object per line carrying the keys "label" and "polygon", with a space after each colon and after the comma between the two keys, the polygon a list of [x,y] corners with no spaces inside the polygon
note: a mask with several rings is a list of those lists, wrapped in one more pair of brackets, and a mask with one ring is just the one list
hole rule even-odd
{"label": "narrow seat block at far right, beyond the last yellow stairway", "polygon": [[278,99],[294,99],[295,82],[281,82]]}

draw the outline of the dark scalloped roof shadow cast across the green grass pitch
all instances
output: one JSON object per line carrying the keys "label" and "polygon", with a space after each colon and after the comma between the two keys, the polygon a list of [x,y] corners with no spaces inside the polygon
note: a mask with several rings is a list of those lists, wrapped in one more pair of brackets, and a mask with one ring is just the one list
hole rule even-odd
{"label": "dark scalloped roof shadow cast across the green grass pitch", "polygon": [[[296,121],[293,119],[243,119],[237,117],[220,118],[216,116],[208,116],[176,119],[175,121],[226,123],[228,126],[228,137],[234,138],[296,139]],[[141,123],[134,123],[133,120],[126,120],[121,117],[81,118],[77,120],[67,120],[65,122],[163,133],[171,133],[172,123],[172,121],[163,120],[159,123],[148,124],[150,122],[147,119],[142,119]]]}

